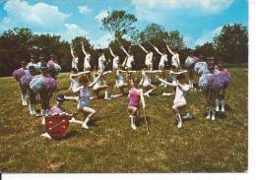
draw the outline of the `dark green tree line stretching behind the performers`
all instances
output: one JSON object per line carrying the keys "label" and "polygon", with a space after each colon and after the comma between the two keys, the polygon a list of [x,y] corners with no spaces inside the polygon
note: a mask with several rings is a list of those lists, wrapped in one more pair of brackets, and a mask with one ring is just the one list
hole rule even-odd
{"label": "dark green tree line stretching behind the performers", "polygon": [[[167,31],[158,24],[150,24],[144,30],[137,30],[137,18],[125,11],[111,11],[108,16],[101,20],[101,29],[112,34],[109,42],[112,50],[124,60],[125,54],[120,49],[120,43],[131,51],[135,57],[135,69],[141,69],[145,61],[145,52],[140,49],[137,43],[141,43],[146,49],[154,51],[149,41],[160,49],[165,47],[165,43],[170,48],[177,48],[180,60],[185,60],[188,51],[191,50],[185,45],[183,35],[178,30]],[[60,35],[36,34],[28,28],[15,28],[5,30],[0,35],[0,77],[10,76],[12,72],[20,66],[22,61],[30,61],[30,53],[39,55],[54,53],[63,72],[71,69],[70,46],[76,50],[80,63],[79,69],[83,70],[84,54],[81,42],[92,54],[92,67],[97,66],[98,51],[105,53],[106,59],[111,59],[108,48],[98,49],[86,36],[77,36],[71,42],[61,40]],[[165,43],[164,43],[165,42]],[[225,25],[219,34],[216,34],[212,42],[198,45],[194,49],[196,55],[215,56],[217,60],[228,63],[248,62],[248,30],[241,24]],[[154,67],[158,67],[160,57],[155,53],[156,59]],[[169,56],[170,57],[170,56]],[[170,59],[170,58],[169,58]],[[109,66],[110,68],[110,66]]]}

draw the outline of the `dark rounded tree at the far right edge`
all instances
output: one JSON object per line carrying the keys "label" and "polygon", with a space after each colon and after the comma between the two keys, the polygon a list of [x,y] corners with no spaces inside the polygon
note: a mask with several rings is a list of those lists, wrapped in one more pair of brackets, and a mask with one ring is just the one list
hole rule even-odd
{"label": "dark rounded tree at the far right edge", "polygon": [[228,63],[248,62],[248,30],[241,24],[225,25],[214,37],[217,57]]}

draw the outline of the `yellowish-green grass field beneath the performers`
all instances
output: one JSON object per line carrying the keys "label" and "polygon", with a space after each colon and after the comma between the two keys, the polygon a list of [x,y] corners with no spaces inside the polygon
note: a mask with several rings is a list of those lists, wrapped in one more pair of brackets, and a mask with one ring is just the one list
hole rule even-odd
{"label": "yellowish-green grass field beneath the performers", "polygon": [[[244,172],[248,165],[247,68],[228,70],[232,83],[226,91],[226,111],[216,121],[205,119],[202,92],[191,91],[188,109],[195,118],[177,129],[171,110],[173,96],[161,96],[160,89],[146,98],[149,135],[142,113],[137,131],[130,128],[125,96],[92,101],[97,114],[91,129],[72,125],[62,141],[39,137],[44,133],[40,119],[31,117],[21,105],[15,80],[2,78],[0,171]],[[108,81],[114,84],[110,77]],[[68,75],[60,75],[59,83],[56,92],[68,94]],[[66,102],[64,107],[74,112],[76,102]],[[82,119],[82,114],[77,118]]]}

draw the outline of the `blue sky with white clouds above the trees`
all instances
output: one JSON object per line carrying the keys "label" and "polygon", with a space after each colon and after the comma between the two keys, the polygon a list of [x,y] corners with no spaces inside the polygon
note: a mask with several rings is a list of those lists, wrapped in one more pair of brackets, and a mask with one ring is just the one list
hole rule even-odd
{"label": "blue sky with white clouds above the trees", "polygon": [[247,0],[0,0],[0,33],[30,28],[68,41],[84,35],[106,47],[111,35],[100,29],[100,20],[111,10],[134,14],[139,30],[152,23],[179,30],[192,48],[211,42],[226,24],[248,26]]}

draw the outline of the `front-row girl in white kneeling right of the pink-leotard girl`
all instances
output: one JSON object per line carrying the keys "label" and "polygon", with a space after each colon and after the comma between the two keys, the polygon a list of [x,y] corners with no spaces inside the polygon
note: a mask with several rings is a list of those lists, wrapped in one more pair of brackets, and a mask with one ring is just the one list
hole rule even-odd
{"label": "front-row girl in white kneeling right of the pink-leotard girl", "polygon": [[192,116],[190,113],[187,113],[183,118],[181,118],[180,110],[184,108],[187,105],[187,100],[185,98],[186,92],[189,90],[189,85],[185,83],[185,76],[183,74],[179,75],[177,77],[177,83],[176,84],[170,84],[162,79],[159,79],[160,82],[164,83],[167,86],[176,87],[176,93],[175,98],[173,100],[173,106],[172,109],[176,113],[176,119],[178,122],[178,128],[182,127],[182,119],[190,119]]}

